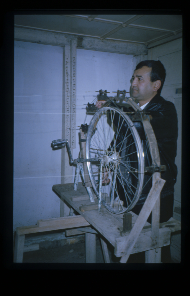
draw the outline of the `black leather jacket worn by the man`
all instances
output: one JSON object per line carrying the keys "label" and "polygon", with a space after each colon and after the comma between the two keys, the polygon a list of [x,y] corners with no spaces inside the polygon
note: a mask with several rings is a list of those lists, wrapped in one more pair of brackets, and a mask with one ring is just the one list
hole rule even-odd
{"label": "black leather jacket worn by the man", "polygon": [[[112,106],[114,106],[113,103]],[[121,109],[121,106],[118,107]],[[160,153],[160,165],[166,165],[166,171],[161,172],[161,178],[166,180],[160,194],[160,198],[163,198],[174,192],[174,184],[176,183],[177,177],[177,166],[175,165],[178,137],[177,112],[174,104],[166,101],[159,94],[156,94],[143,110],[149,112],[147,114],[152,115],[153,117],[153,119],[150,120],[150,123],[157,139]],[[134,110],[132,107],[123,107],[123,111],[133,112]],[[137,128],[142,142],[145,166],[151,166],[151,159],[142,123],[140,121],[134,121],[134,125]],[[145,173],[144,184],[149,178],[150,173]],[[145,202],[151,187],[152,179],[150,179],[148,184],[142,190],[137,205]]]}

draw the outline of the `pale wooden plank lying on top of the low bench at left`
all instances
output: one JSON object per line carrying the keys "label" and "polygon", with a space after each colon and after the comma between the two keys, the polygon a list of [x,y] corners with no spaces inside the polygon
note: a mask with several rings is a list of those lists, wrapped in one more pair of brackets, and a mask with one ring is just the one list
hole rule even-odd
{"label": "pale wooden plank lying on top of the low bench at left", "polygon": [[81,215],[69,216],[69,217],[59,217],[51,219],[42,219],[37,221],[39,227],[43,226],[58,226],[66,228],[81,227],[90,225]]}

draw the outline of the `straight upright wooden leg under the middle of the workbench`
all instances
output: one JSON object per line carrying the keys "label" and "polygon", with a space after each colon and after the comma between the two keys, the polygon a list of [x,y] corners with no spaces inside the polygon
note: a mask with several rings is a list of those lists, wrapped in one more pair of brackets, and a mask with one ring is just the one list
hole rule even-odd
{"label": "straight upright wooden leg under the middle of the workbench", "polygon": [[96,234],[86,232],[85,234],[86,263],[96,263]]}

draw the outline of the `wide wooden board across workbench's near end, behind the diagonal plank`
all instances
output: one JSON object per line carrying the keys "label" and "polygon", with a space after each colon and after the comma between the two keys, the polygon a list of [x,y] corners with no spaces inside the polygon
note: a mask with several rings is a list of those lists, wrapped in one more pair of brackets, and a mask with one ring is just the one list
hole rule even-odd
{"label": "wide wooden board across workbench's near end, behind the diagonal plank", "polygon": [[[126,237],[129,237],[130,231],[126,234]],[[171,239],[171,230],[168,228],[159,229],[159,246],[164,247],[170,244]],[[114,254],[116,257],[121,257],[123,255],[123,248],[126,246],[126,238],[119,237],[115,240],[115,249]],[[142,229],[140,235],[138,236],[135,245],[131,251],[131,254],[148,251],[155,249],[155,244],[151,238],[151,227],[147,229]]]}

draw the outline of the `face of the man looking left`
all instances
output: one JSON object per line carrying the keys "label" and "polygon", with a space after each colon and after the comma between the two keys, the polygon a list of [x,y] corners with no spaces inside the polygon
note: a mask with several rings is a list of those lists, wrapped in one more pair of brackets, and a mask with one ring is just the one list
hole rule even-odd
{"label": "face of the man looking left", "polygon": [[152,99],[155,92],[155,82],[150,81],[150,73],[152,68],[143,66],[134,72],[132,76],[132,97],[140,100]]}

